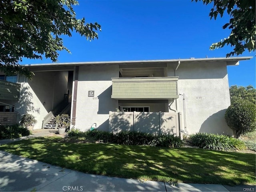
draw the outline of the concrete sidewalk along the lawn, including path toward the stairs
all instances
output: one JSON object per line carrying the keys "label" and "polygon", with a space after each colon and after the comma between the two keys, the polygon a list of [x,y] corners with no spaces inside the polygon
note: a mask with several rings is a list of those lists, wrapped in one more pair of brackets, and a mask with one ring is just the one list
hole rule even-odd
{"label": "concrete sidewalk along the lawn, including path toward the stairs", "polygon": [[[49,136],[53,132],[38,131],[32,136]],[[8,140],[0,140],[0,144]],[[86,174],[52,166],[44,162],[23,158],[0,151],[0,191],[251,191],[255,186],[227,186],[218,184],[186,184],[116,178]]]}

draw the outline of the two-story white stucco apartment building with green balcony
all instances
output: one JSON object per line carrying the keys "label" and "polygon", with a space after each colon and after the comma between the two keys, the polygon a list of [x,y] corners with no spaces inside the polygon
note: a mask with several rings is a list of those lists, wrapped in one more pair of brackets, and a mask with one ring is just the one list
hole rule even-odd
{"label": "two-story white stucco apartment building with green balcony", "polygon": [[32,81],[0,75],[6,93],[0,94],[0,122],[8,122],[7,112],[17,119],[33,114],[34,129],[41,129],[52,127],[49,120],[62,111],[83,131],[95,123],[104,131],[232,134],[224,120],[230,105],[227,66],[250,58],[28,65]]}

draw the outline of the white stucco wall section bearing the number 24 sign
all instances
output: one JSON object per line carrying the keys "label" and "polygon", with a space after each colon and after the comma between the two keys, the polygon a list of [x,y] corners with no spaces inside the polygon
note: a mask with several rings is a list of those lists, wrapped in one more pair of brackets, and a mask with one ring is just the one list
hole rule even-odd
{"label": "white stucco wall section bearing the number 24 sign", "polygon": [[[75,128],[86,131],[96,123],[98,130],[108,131],[109,111],[118,107],[118,100],[111,99],[111,78],[117,77],[118,64],[79,66]],[[94,97],[88,97],[88,91],[94,91]]]}

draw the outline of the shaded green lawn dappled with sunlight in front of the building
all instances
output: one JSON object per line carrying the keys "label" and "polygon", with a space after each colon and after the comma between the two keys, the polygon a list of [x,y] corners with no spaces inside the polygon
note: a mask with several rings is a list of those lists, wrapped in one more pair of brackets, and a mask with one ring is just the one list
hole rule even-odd
{"label": "shaded green lawn dappled with sunlight in front of the building", "polygon": [[256,184],[255,154],[68,143],[51,137],[13,142],[0,150],[92,174],[164,182]]}

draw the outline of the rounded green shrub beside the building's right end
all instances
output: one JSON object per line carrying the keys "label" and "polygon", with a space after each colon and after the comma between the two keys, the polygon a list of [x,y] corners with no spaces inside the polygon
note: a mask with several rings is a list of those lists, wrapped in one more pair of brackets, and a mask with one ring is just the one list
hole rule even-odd
{"label": "rounded green shrub beside the building's right end", "polygon": [[225,120],[233,130],[234,137],[255,129],[256,108],[247,100],[236,100],[226,110]]}

